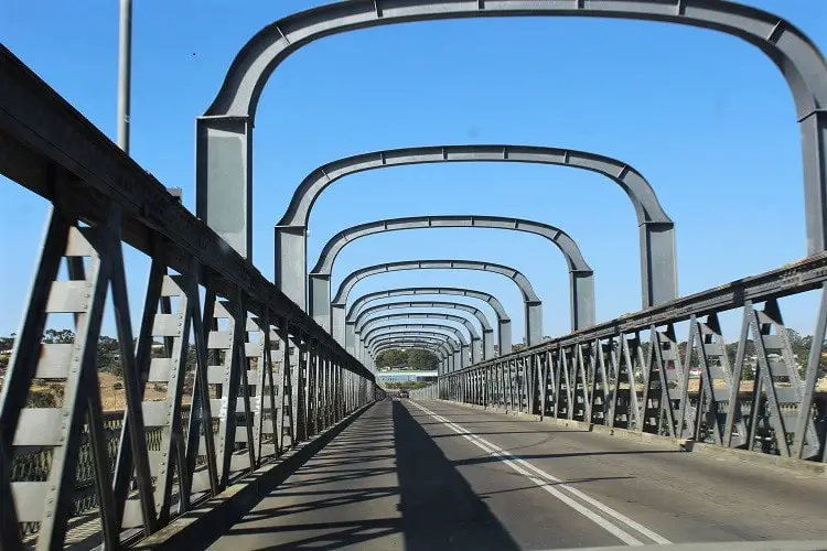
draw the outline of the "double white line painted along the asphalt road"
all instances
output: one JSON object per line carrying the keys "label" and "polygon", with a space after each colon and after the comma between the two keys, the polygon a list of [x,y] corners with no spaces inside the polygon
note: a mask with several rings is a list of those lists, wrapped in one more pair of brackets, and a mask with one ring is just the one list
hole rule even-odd
{"label": "double white line painted along the asphalt road", "polygon": [[[579,501],[572,499],[570,496],[565,494],[563,491],[560,491],[560,489],[565,489],[571,495],[576,496],[577,498],[581,499],[582,501],[589,504],[593,508],[602,511],[603,514],[608,515],[609,517],[612,517],[617,522],[621,522],[625,525],[627,528],[631,528],[638,533],[645,536],[646,538],[653,540],[656,543],[672,543],[672,541],[667,540],[663,536],[649,530],[648,528],[644,527],[643,525],[635,522],[631,518],[626,517],[625,515],[612,509],[605,504],[602,504],[598,501],[597,499],[587,496],[582,491],[580,491],[577,488],[572,488],[568,484],[563,484],[562,480],[559,478],[551,476],[547,472],[543,471],[539,467],[536,467],[528,463],[525,460],[522,460],[519,457],[516,457],[512,455],[511,453],[506,452],[505,450],[492,444],[491,442],[477,436],[476,434],[472,433],[471,431],[463,429],[457,423],[451,422],[450,420],[443,418],[442,415],[439,415],[429,409],[416,403],[416,402],[408,402],[415,406],[416,408],[420,409],[425,413],[429,414],[437,421],[443,423],[445,426],[454,431],[455,433],[462,435],[465,440],[477,446],[479,449],[483,450],[488,455],[493,455],[495,457],[500,457],[504,464],[506,464],[508,467],[511,467],[513,471],[522,474],[529,480],[531,480],[537,486],[541,487],[552,496],[555,496],[557,499],[562,501],[563,504],[568,505],[579,514],[587,517],[589,520],[593,521],[608,532],[610,532],[615,538],[620,539],[627,545],[643,545],[644,543],[629,533],[627,531],[623,530],[620,526],[615,525],[614,522],[605,519],[604,517],[598,515],[593,510],[587,508]],[[536,475],[536,476],[535,476]],[[538,478],[539,477],[539,478]],[[545,479],[545,480],[544,480]],[[548,484],[552,483],[552,485]]]}

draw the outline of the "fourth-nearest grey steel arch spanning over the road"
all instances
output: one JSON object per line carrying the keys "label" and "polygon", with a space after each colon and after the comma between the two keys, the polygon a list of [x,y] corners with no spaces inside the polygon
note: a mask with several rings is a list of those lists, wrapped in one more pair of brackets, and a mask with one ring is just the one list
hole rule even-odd
{"label": "fourth-nearest grey steel arch spanning over the road", "polygon": [[481,260],[404,260],[368,266],[345,277],[339,285],[336,295],[331,301],[333,337],[339,343],[344,343],[344,311],[347,305],[347,296],[354,285],[370,276],[400,270],[477,270],[505,276],[516,283],[523,294],[526,343],[534,345],[543,339],[543,301],[535,293],[531,282],[520,271],[507,266],[483,262]]}

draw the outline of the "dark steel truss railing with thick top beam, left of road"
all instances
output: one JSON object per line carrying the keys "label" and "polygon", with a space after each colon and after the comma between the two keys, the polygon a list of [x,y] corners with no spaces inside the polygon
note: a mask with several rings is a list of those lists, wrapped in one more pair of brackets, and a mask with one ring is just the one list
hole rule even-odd
{"label": "dark steel truss railing with thick top beam, left of road", "polygon": [[[34,532],[37,549],[61,548],[89,480],[117,549],[376,398],[362,364],[2,46],[0,151],[0,173],[52,203],[0,395],[3,550]],[[135,341],[125,244],[151,259]],[[96,366],[107,299],[120,426]],[[55,314],[74,318],[74,342],[43,343]],[[60,404],[28,403],[36,380],[60,387]],[[164,398],[146,399],[148,383]]]}

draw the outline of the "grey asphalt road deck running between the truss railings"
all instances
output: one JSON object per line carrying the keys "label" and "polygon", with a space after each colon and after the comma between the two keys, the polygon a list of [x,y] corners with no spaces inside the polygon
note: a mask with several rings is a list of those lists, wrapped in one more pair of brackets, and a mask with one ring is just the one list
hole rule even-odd
{"label": "grey asphalt road deck running between the truss railings", "polygon": [[365,412],[211,549],[827,540],[827,479],[441,402]]}

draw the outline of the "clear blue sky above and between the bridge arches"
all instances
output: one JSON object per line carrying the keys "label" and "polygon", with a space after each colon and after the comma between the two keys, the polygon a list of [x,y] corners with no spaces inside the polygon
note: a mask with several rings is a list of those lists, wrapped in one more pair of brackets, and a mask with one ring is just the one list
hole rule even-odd
{"label": "clear blue sky above and between the bridge arches", "polygon": [[[195,118],[230,61],[265,24],[320,3],[135,0],[131,152],[165,185],[183,187],[187,207],[195,199]],[[748,3],[783,15],[827,50],[824,0]],[[112,139],[117,34],[116,0],[0,3],[3,44]],[[271,77],[256,118],[256,266],[272,277],[272,226],[293,188],[320,164],[379,149],[463,143],[582,149],[635,166],[676,223],[681,294],[806,255],[793,99],[759,50],[673,24],[519,18],[363,30],[290,56]],[[0,334],[20,322],[45,213],[44,201],[0,179]],[[594,269],[599,321],[641,306],[638,233],[629,199],[606,179],[565,168],[461,163],[348,176],[313,208],[309,263],[345,227],[437,214],[556,225]],[[363,266],[419,258],[517,268],[544,300],[545,334],[569,331],[562,257],[525,234],[420,229],[361,239],[340,255],[333,284]],[[140,304],[148,262],[136,252],[128,261],[132,304]],[[519,294],[500,276],[409,271],[369,278],[356,291],[436,284],[501,296],[515,342],[522,339]],[[815,299],[786,301],[787,324],[812,333]],[[737,327],[733,320],[727,325]],[[112,327],[109,321],[104,332]],[[733,331],[724,335],[729,341]]]}

